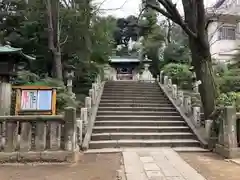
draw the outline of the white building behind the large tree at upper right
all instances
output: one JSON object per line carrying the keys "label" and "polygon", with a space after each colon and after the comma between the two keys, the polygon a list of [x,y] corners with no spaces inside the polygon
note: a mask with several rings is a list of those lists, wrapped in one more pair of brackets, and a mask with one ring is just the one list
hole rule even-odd
{"label": "white building behind the large tree at upper right", "polygon": [[207,16],[212,58],[229,63],[240,48],[240,0],[217,0]]}

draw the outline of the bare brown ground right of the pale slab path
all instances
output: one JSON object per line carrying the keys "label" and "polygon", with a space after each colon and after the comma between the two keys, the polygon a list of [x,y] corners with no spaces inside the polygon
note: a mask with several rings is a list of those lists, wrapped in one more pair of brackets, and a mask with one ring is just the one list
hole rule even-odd
{"label": "bare brown ground right of the pale slab path", "polygon": [[240,166],[214,153],[179,153],[207,180],[240,180]]}

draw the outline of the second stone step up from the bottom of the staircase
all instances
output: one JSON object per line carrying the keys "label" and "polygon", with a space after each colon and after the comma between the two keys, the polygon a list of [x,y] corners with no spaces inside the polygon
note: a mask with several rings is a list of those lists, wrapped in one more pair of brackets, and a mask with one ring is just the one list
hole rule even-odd
{"label": "second stone step up from the bottom of the staircase", "polygon": [[154,132],[138,132],[138,133],[94,133],[93,141],[96,140],[120,140],[120,139],[194,139],[195,136],[190,132],[171,132],[171,133],[154,133]]}

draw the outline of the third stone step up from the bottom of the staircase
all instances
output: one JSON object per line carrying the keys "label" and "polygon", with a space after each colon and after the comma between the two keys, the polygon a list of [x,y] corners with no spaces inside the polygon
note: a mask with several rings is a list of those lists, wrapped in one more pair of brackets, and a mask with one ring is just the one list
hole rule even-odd
{"label": "third stone step up from the bottom of the staircase", "polygon": [[190,132],[187,126],[94,126],[93,133],[113,132]]}

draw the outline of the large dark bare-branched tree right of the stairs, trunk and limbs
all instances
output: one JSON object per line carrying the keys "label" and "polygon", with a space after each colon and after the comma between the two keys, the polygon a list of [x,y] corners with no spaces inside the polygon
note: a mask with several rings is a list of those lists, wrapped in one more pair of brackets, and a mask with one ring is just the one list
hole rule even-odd
{"label": "large dark bare-branched tree right of the stairs, trunk and limbs", "polygon": [[158,0],[158,5],[146,0],[146,7],[150,7],[165,17],[171,19],[188,35],[191,50],[192,65],[198,80],[201,80],[200,94],[203,103],[205,118],[215,110],[217,86],[214,80],[210,46],[206,30],[204,0],[182,0],[184,19],[176,4],[172,0]]}

